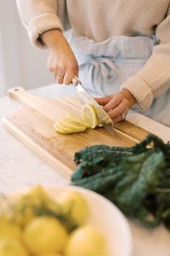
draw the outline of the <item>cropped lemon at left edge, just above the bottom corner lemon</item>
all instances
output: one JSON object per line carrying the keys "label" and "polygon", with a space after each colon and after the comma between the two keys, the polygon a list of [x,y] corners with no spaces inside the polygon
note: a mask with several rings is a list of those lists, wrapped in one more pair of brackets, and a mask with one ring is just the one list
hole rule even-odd
{"label": "cropped lemon at left edge, just above the bottom corner lemon", "polygon": [[21,239],[21,230],[17,224],[6,218],[1,217],[0,219],[0,239],[2,237],[9,237],[13,239]]}

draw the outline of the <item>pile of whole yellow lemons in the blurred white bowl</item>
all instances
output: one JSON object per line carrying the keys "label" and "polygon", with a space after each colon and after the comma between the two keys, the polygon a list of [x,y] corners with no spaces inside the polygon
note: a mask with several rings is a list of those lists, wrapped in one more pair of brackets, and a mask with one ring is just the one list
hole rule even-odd
{"label": "pile of whole yellow lemons in the blurred white bowl", "polygon": [[[68,229],[68,216],[74,229]],[[0,255],[108,256],[103,234],[88,218],[89,205],[79,192],[65,190],[54,201],[37,186],[0,216]]]}

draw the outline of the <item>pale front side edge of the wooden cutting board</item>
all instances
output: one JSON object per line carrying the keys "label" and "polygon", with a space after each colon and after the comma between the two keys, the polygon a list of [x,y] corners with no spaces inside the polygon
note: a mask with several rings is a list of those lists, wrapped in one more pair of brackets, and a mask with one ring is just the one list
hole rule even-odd
{"label": "pale front side edge of the wooden cutting board", "polygon": [[[73,171],[71,171],[70,168],[66,167],[63,163],[60,161],[57,161],[56,158],[54,158],[52,155],[50,155],[47,151],[43,150],[39,145],[37,145],[35,142],[30,140],[30,138],[26,137],[23,132],[21,132],[17,127],[12,127],[12,124],[10,121],[6,118],[6,116],[2,117],[2,124],[4,129],[11,133],[14,137],[16,137],[20,142],[22,142],[24,145],[27,146],[31,151],[33,151],[37,156],[39,156],[45,163],[48,163],[49,166],[51,166],[55,171],[58,172],[58,174],[61,174],[67,181],[71,180],[71,174],[73,174]],[[33,147],[32,147],[33,145]],[[32,150],[34,148],[34,150]],[[58,166],[56,168],[56,161],[58,163]],[[62,171],[60,171],[60,168]]]}

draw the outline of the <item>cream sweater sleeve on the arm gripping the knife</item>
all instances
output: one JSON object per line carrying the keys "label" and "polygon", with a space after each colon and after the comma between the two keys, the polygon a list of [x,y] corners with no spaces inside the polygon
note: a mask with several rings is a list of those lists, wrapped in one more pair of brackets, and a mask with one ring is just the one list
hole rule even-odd
{"label": "cream sweater sleeve on the arm gripping the knife", "polygon": [[46,48],[40,40],[40,35],[45,31],[56,28],[63,32],[57,14],[66,17],[64,0],[17,0],[17,8],[33,46]]}

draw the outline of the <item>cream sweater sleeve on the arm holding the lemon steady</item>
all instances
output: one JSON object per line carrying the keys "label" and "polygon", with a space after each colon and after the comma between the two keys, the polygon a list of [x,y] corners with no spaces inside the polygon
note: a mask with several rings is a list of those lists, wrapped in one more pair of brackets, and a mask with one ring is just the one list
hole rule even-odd
{"label": "cream sweater sleeve on the arm holding the lemon steady", "polygon": [[151,57],[121,86],[135,96],[143,111],[150,108],[154,98],[170,88],[170,9],[166,19],[156,27],[155,34],[159,44],[153,47]]}

